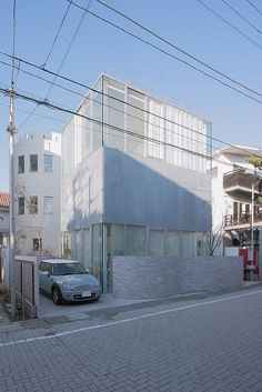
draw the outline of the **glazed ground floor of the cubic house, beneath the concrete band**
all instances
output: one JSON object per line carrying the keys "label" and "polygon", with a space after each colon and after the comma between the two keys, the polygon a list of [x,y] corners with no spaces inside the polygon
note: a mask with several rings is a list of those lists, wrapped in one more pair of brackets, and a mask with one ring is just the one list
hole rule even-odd
{"label": "glazed ground floor of the cubic house, beneath the concrete band", "polygon": [[62,233],[64,258],[79,260],[100,279],[104,292],[113,292],[115,255],[209,255],[209,232],[161,230],[130,224],[98,223]]}

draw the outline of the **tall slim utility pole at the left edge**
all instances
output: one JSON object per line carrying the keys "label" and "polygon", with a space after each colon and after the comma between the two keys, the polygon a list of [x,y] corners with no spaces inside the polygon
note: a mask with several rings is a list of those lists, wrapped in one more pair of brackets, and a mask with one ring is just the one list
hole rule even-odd
{"label": "tall slim utility pole at the left edge", "polygon": [[9,90],[9,124],[7,131],[9,132],[9,175],[10,175],[10,243],[9,243],[9,274],[10,274],[10,298],[11,298],[11,319],[16,319],[16,267],[14,267],[14,134],[17,132],[14,127],[14,90],[11,82]]}

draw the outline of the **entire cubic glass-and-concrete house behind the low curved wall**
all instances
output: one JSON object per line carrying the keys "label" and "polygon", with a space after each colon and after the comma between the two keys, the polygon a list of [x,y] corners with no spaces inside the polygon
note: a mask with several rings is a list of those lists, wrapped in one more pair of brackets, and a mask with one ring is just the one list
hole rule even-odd
{"label": "entire cubic glass-and-concrete house behind the low curved wall", "polygon": [[113,255],[209,253],[211,123],[104,74],[78,113],[62,134],[63,255],[110,292]]}

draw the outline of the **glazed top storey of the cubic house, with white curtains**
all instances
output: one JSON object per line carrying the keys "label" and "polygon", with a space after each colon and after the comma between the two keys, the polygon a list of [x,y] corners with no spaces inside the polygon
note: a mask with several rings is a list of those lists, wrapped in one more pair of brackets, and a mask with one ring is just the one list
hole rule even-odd
{"label": "glazed top storey of the cubic house, with white curtains", "polygon": [[63,174],[102,145],[205,173],[211,131],[203,118],[102,74],[63,129]]}

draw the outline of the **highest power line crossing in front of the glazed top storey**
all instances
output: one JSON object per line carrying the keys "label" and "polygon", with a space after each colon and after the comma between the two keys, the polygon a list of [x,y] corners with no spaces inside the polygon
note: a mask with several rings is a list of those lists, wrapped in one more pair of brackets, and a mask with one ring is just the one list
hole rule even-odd
{"label": "highest power line crossing in front of the glazed top storey", "polygon": [[[1,51],[0,51],[0,54],[2,54],[2,56],[4,56],[4,57],[8,57],[8,58],[12,58],[11,54],[8,54],[8,53],[1,52]],[[21,62],[23,62],[23,63],[26,63],[26,64],[28,64],[28,66],[30,66],[30,67],[32,67],[32,68],[36,68],[36,69],[39,69],[39,70],[41,70],[41,71],[43,71],[43,72],[47,72],[47,73],[49,73],[49,74],[56,74],[56,72],[52,72],[52,71],[50,71],[50,70],[48,70],[48,69],[42,69],[41,67],[36,66],[36,64],[33,64],[33,63],[30,62],[30,61],[22,60],[22,59],[19,59],[19,58],[17,58],[17,57],[16,57],[16,59],[19,60],[19,61],[21,61]],[[121,103],[124,103],[124,104],[127,104],[127,105],[130,105],[131,108],[138,109],[138,110],[140,110],[140,111],[142,111],[142,112],[144,112],[144,113],[147,113],[147,114],[151,114],[151,115],[153,115],[153,117],[155,117],[155,118],[159,118],[159,119],[161,119],[161,120],[168,121],[168,122],[170,122],[170,123],[174,123],[174,124],[177,124],[177,125],[180,125],[180,127],[182,127],[182,128],[184,128],[184,129],[188,129],[188,130],[191,130],[191,131],[194,131],[194,132],[198,133],[198,131],[195,131],[195,130],[193,130],[193,129],[191,129],[191,128],[189,128],[189,127],[185,127],[185,125],[175,123],[175,122],[172,121],[172,120],[168,120],[168,119],[165,119],[164,117],[161,117],[161,115],[159,115],[159,114],[155,114],[155,113],[150,112],[149,110],[145,110],[145,109],[141,109],[141,108],[139,108],[139,107],[135,107],[135,105],[131,104],[130,102],[125,102],[124,100],[121,100],[121,99],[119,99],[119,98],[109,96],[109,94],[107,94],[107,93],[104,93],[104,92],[102,92],[102,91],[95,90],[94,88],[91,88],[91,87],[89,87],[89,86],[87,86],[87,84],[83,84],[83,83],[81,83],[81,82],[78,82],[78,81],[75,81],[75,80],[73,80],[73,79],[63,77],[63,76],[61,76],[61,74],[59,74],[58,77],[61,78],[62,80],[66,80],[66,81],[70,82],[70,83],[77,84],[77,86],[79,86],[79,87],[85,88],[85,89],[88,89],[88,90],[90,90],[90,91],[93,91],[93,92],[95,92],[95,93],[102,94],[103,97],[112,98],[112,99],[114,99],[117,102],[121,102]],[[262,103],[262,102],[260,102],[260,103]],[[203,133],[200,132],[200,134],[203,134]],[[218,139],[218,138],[214,138],[214,137],[211,137],[211,135],[206,135],[206,138],[210,138],[210,139],[212,139],[212,140],[219,142],[219,143],[222,143],[222,144],[224,144],[224,145],[234,147],[234,148],[235,148],[235,145],[233,145],[233,144],[231,144],[231,143],[226,143],[226,142],[224,142],[224,141]],[[236,149],[238,149],[238,148],[236,148]],[[243,151],[243,152],[245,152],[245,153],[248,153],[248,154],[250,153],[249,151],[245,151],[244,149],[240,149],[240,148],[239,148],[238,150]],[[259,157],[259,155],[256,155],[256,157]],[[261,158],[261,157],[259,157],[259,158]]]}

